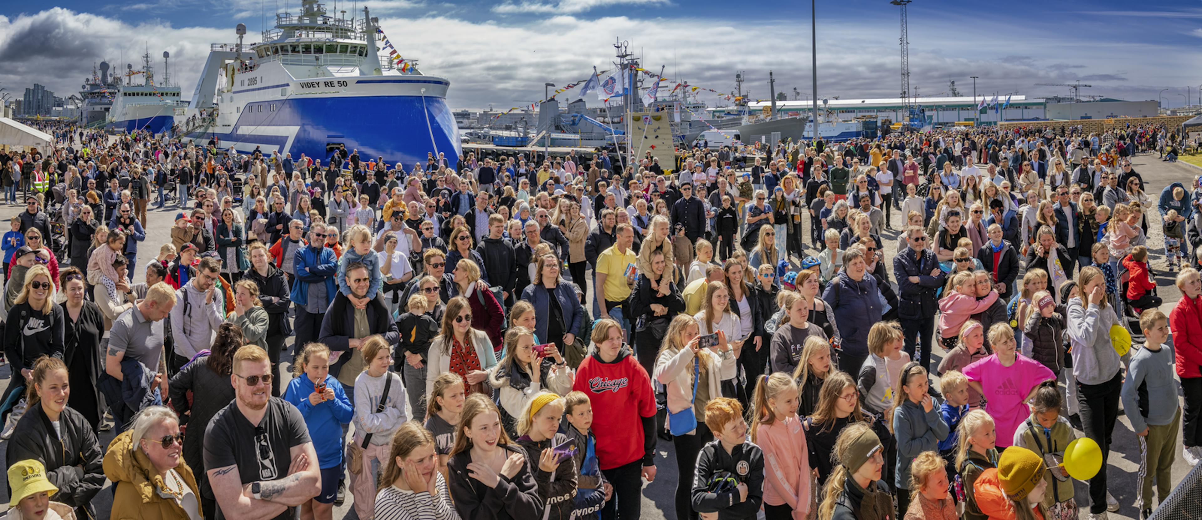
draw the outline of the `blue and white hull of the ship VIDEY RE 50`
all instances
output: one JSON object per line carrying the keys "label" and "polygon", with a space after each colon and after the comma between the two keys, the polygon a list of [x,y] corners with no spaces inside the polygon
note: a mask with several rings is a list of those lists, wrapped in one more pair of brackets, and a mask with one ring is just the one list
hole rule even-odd
{"label": "blue and white hull of the ship VIDEY RE 50", "polygon": [[[272,110],[274,106],[274,110]],[[204,130],[204,128],[202,128]],[[249,154],[279,150],[328,163],[338,145],[362,157],[383,157],[406,166],[444,153],[451,165],[462,155],[459,130],[440,96],[290,97],[246,103],[227,132],[194,132],[188,138]]]}

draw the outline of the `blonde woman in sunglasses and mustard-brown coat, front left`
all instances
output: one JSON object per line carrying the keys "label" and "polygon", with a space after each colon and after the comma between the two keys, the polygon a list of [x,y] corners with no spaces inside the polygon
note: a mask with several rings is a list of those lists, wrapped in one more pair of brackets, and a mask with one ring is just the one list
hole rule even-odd
{"label": "blonde woman in sunglasses and mustard-brown coat, front left", "polygon": [[105,476],[117,488],[114,518],[201,520],[206,510],[213,514],[201,503],[197,472],[179,456],[183,440],[175,412],[150,406],[109,443]]}

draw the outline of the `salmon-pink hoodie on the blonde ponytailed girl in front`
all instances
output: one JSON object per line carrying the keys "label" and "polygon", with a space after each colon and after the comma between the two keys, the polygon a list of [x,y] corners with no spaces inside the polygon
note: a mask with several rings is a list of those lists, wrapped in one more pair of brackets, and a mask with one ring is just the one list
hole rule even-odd
{"label": "salmon-pink hoodie on the blonde ponytailed girl in front", "polygon": [[763,450],[763,503],[787,504],[793,520],[805,520],[810,509],[810,459],[802,420],[790,417],[756,430],[755,443]]}

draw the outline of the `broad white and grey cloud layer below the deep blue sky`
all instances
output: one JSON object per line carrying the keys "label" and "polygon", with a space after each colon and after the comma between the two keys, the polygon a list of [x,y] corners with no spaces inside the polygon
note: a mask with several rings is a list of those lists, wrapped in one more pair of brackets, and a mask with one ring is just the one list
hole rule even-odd
{"label": "broad white and grey cloud layer below the deep blue sky", "polygon": [[[422,0],[370,7],[375,13],[407,8],[403,6],[417,1]],[[249,8],[248,2],[243,4]],[[257,19],[257,12],[254,16]],[[895,23],[894,17],[820,23],[819,95],[898,96]],[[5,64],[0,82],[14,92],[37,82],[66,96],[91,74],[94,62],[107,59],[114,70],[136,62],[144,40],[151,56],[171,52],[172,78],[183,85],[184,97],[191,97],[209,44],[232,42],[232,24],[220,29],[174,28],[165,22],[130,24],[63,8],[12,19],[0,17],[0,62]],[[505,109],[537,101],[543,96],[545,82],[563,85],[583,79],[594,66],[611,67],[615,36],[631,42],[631,52],[643,58],[644,67],[657,71],[666,65],[665,76],[694,85],[730,91],[734,89],[734,73],[743,71],[744,91],[750,90],[752,98],[767,98],[772,70],[778,91],[792,97],[793,88],[804,94],[810,90],[808,23],[567,14],[499,23],[469,22],[459,14],[381,13],[381,25],[401,55],[421,60],[423,72],[451,80],[448,103],[453,108],[493,104]],[[250,40],[256,37],[252,32]],[[1082,94],[1147,100],[1155,98],[1165,85],[1179,84],[1184,91],[1192,78],[1190,68],[1180,64],[1202,61],[1202,53],[1191,47],[1107,38],[1105,34],[1096,40],[1070,38],[1063,32],[1041,34],[1014,26],[1006,30],[1005,46],[999,46],[993,31],[946,31],[912,24],[911,85],[917,85],[921,95],[938,95],[947,90],[952,77],[960,92],[970,94],[972,82],[968,77],[980,76],[978,94],[1064,95],[1064,89],[1034,83],[1096,77],[1100,79],[1087,80],[1094,88]],[[1049,48],[1057,49],[1051,56]],[[161,59],[155,67],[161,67]],[[573,92],[567,98],[575,100]],[[703,100],[712,104],[715,101],[713,96]]]}

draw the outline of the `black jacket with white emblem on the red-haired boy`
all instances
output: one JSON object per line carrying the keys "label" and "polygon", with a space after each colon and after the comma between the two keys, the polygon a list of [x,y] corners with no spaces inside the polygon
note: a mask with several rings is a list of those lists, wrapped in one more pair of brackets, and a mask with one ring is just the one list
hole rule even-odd
{"label": "black jacket with white emblem on the red-haired boy", "polygon": [[[728,473],[746,484],[746,500],[739,501],[733,489],[715,492],[710,483],[720,473]],[[684,476],[682,476],[684,478]],[[692,474],[692,509],[697,513],[718,513],[718,520],[755,519],[763,503],[763,452],[751,442],[736,446],[731,453],[722,441],[714,440],[701,448]]]}

